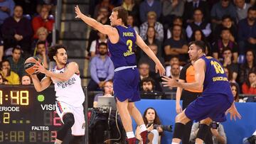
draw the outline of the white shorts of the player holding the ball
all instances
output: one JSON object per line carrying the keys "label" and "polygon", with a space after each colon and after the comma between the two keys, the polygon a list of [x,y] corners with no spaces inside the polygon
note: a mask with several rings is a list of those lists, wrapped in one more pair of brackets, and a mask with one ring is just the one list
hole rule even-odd
{"label": "white shorts of the player holding the ball", "polygon": [[74,107],[70,106],[61,101],[56,101],[56,111],[60,116],[61,121],[63,122],[63,116],[65,113],[73,113],[75,118],[75,123],[71,127],[72,135],[85,135],[85,114],[83,112],[83,106]]}

